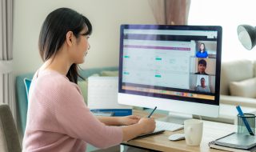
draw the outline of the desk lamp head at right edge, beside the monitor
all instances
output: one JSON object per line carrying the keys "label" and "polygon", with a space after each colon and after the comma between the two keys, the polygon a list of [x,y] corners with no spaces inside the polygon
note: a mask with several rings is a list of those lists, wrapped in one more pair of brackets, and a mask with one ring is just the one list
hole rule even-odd
{"label": "desk lamp head at right edge, beside the monitor", "polygon": [[247,50],[251,50],[256,45],[256,28],[249,25],[238,26],[238,38]]}

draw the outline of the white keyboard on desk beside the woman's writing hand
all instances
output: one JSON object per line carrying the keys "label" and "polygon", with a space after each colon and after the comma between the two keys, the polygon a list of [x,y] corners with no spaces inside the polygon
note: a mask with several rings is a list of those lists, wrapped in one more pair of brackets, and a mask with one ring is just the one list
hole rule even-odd
{"label": "white keyboard on desk beside the woman's writing hand", "polygon": [[177,123],[170,123],[170,122],[161,122],[156,120],[156,128],[155,130],[167,130],[167,131],[176,131],[182,130],[184,125],[177,124]]}

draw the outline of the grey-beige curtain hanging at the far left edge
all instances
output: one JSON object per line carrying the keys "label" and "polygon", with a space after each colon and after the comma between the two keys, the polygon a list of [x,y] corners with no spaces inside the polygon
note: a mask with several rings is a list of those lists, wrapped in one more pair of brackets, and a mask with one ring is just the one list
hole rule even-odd
{"label": "grey-beige curtain hanging at the far left edge", "polygon": [[16,122],[13,62],[13,0],[0,0],[0,103],[6,103]]}

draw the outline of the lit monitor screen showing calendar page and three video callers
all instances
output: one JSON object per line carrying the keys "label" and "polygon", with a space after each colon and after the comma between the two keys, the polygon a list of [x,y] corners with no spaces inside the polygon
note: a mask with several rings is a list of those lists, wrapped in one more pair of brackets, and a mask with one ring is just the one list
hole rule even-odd
{"label": "lit monitor screen showing calendar page and three video callers", "polygon": [[217,31],[211,31],[210,37],[207,34],[209,31],[206,36],[191,37],[127,32],[122,88],[214,100]]}

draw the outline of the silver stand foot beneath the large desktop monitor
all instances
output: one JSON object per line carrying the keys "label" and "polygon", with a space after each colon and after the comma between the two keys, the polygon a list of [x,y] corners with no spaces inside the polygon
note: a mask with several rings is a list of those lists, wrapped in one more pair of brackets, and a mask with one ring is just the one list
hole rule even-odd
{"label": "silver stand foot beneath the large desktop monitor", "polygon": [[177,123],[177,124],[184,124],[184,121],[186,119],[192,118],[192,114],[181,114],[177,112],[169,112],[169,114],[164,118],[158,118],[159,121],[162,122],[171,122],[171,123]]}

